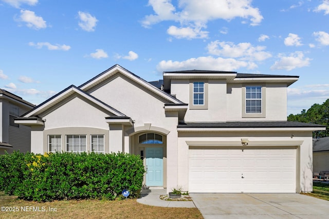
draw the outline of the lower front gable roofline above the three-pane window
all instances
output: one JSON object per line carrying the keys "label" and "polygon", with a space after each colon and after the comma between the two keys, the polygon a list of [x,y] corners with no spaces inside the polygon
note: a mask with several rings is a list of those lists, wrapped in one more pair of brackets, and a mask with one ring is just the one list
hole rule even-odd
{"label": "lower front gable roofline above the three-pane window", "polygon": [[116,110],[115,108],[105,104],[104,102],[100,101],[99,99],[97,99],[96,97],[88,94],[87,92],[79,89],[78,87],[74,86],[74,85],[70,85],[69,87],[65,88],[64,90],[62,90],[61,92],[57,93],[56,95],[53,95],[52,97],[50,97],[49,99],[47,99],[46,101],[44,101],[43,103],[41,103],[40,105],[34,107],[32,110],[26,112],[25,114],[23,114],[21,117],[29,117],[32,116],[36,113],[38,113],[38,111],[40,111],[43,107],[47,106],[47,104],[49,104],[51,101],[53,101],[56,98],[60,98],[61,95],[64,95],[65,93],[69,93],[70,90],[72,92],[76,92],[79,93],[80,95],[86,97],[87,99],[89,99],[90,101],[96,103],[97,105],[101,106],[102,108],[108,110],[109,112],[115,114],[115,115],[119,115],[119,116],[125,116],[123,113],[121,113],[120,111]]}

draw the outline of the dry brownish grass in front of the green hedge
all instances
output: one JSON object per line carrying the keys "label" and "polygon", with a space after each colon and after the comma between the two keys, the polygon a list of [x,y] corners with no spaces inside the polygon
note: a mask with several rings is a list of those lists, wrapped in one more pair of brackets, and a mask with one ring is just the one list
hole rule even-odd
{"label": "dry brownish grass in front of the green hedge", "polygon": [[[28,202],[0,192],[0,218],[203,218],[197,208],[163,208],[123,201]],[[12,212],[12,210],[18,210]],[[34,208],[34,209],[33,209]],[[24,211],[30,210],[30,211]],[[56,211],[55,211],[56,210]]]}

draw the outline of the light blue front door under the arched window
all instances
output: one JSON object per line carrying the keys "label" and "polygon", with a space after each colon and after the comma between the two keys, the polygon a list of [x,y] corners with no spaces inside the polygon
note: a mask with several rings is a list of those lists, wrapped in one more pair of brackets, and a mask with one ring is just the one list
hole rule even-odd
{"label": "light blue front door under the arched window", "polygon": [[146,185],[163,186],[163,149],[145,148],[146,151]]}

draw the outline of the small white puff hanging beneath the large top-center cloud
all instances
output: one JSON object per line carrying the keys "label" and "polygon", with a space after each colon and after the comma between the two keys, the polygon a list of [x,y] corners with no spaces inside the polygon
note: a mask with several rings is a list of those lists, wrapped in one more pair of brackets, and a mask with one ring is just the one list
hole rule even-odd
{"label": "small white puff hanging beneath the large top-center cloud", "polygon": [[193,39],[193,38],[206,38],[208,37],[207,31],[202,31],[200,28],[192,28],[192,27],[175,27],[170,26],[167,30],[167,33],[169,35],[172,35],[176,38],[187,38],[187,39]]}

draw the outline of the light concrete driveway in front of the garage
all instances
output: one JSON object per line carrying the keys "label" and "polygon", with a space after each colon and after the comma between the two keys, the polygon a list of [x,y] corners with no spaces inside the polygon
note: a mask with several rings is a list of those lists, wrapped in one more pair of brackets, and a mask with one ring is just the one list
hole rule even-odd
{"label": "light concrete driveway in front of the garage", "polygon": [[329,218],[329,202],[297,193],[190,193],[207,218]]}

